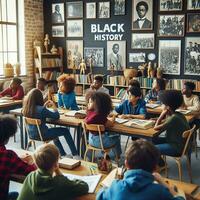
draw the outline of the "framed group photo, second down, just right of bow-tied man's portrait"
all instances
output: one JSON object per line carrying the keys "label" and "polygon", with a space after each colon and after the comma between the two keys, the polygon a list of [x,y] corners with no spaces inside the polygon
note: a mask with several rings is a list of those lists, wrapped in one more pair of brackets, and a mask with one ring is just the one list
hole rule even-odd
{"label": "framed group photo, second down, just right of bow-tied man's portrait", "polygon": [[183,37],[185,31],[184,15],[159,15],[158,36]]}

